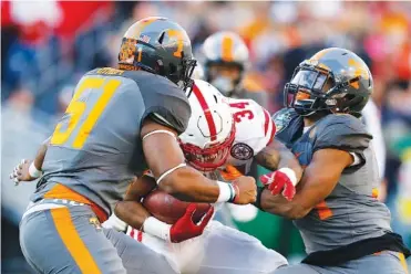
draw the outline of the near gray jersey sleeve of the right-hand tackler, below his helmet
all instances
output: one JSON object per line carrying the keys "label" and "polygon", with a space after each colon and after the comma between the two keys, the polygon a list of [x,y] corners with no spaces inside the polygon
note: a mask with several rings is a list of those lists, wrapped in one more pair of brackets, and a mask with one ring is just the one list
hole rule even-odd
{"label": "near gray jersey sleeve of the right-hand tackler, below his helmet", "polygon": [[372,136],[367,133],[360,119],[351,115],[329,115],[314,130],[314,152],[335,148],[356,154],[364,162],[363,150],[369,147]]}

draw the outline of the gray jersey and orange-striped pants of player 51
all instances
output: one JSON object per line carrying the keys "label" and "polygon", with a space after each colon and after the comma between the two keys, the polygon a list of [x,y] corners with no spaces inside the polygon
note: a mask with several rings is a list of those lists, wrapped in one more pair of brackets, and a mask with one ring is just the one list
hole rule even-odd
{"label": "gray jersey and orange-striped pants of player 51", "polygon": [[182,133],[189,115],[184,92],[165,77],[110,67],[85,74],[51,137],[44,175],[20,223],[20,245],[33,270],[174,273],[162,254],[103,230],[100,221],[146,169],[143,120],[151,116]]}

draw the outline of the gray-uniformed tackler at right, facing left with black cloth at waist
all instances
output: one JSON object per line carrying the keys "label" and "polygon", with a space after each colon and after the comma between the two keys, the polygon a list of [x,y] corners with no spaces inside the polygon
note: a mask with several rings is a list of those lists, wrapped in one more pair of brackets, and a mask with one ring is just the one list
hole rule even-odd
{"label": "gray-uniformed tackler at right, facing left with black cloth at waist", "polygon": [[372,136],[359,119],[372,88],[364,62],[338,48],[304,61],[286,84],[286,108],[274,115],[276,138],[305,171],[292,201],[261,188],[257,204],[295,220],[308,256],[274,273],[407,273],[409,250],[377,199]]}

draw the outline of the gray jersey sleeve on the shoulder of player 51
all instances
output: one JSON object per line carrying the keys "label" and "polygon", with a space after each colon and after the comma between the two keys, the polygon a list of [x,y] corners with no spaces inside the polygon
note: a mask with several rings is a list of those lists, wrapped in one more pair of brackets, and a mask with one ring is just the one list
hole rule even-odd
{"label": "gray jersey sleeve on the shoulder of player 51", "polygon": [[151,117],[156,123],[182,134],[191,116],[191,107],[184,92],[169,80],[138,71],[136,81],[143,96],[145,112],[142,119]]}

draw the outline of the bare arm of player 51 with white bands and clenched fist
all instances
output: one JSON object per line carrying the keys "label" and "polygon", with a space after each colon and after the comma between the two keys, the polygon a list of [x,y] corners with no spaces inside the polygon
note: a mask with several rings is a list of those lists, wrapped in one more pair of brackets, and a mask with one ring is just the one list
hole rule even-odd
{"label": "bare arm of player 51 with white bands and clenched fist", "polygon": [[[176,136],[176,131],[169,127],[146,119],[141,137],[144,138],[157,130],[166,130]],[[158,188],[179,200],[210,203],[234,201],[242,204],[256,200],[256,186],[251,177],[238,178],[233,187],[229,183],[209,180],[194,168],[187,166],[176,168],[184,164],[185,159],[176,138],[168,134],[157,133],[144,138],[143,150],[156,180],[162,177]]]}

